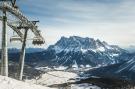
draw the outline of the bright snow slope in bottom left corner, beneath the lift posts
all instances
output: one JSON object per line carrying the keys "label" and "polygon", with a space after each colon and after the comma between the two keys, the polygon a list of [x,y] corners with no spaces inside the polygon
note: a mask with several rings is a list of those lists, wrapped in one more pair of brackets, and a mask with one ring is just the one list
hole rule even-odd
{"label": "bright snow slope in bottom left corner, beneath the lift posts", "polygon": [[54,89],[0,76],[0,89]]}

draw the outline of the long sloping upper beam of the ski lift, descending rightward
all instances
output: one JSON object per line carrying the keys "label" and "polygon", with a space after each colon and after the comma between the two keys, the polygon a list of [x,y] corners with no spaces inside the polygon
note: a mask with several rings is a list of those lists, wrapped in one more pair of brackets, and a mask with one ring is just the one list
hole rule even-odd
{"label": "long sloping upper beam of the ski lift, descending rightward", "polygon": [[22,14],[22,12],[13,7],[12,5],[10,5],[9,3],[3,3],[3,6],[0,5],[0,10],[2,10],[4,8],[6,8],[6,10],[10,13],[13,14],[17,19],[19,19],[23,24],[25,24],[26,26],[29,27],[29,29],[34,33],[35,37],[38,37],[39,42],[37,42],[39,45],[40,44],[44,44],[44,38],[42,37],[41,33],[39,32],[37,26],[32,22],[29,21],[28,18],[26,16],[24,16]]}

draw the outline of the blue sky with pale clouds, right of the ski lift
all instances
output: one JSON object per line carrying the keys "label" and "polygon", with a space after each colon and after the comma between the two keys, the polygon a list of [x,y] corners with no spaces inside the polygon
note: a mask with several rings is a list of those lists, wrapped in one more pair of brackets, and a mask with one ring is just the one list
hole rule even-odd
{"label": "blue sky with pale clouds, right of the ski lift", "polygon": [[77,35],[127,47],[135,45],[135,0],[18,0],[47,47],[61,36]]}

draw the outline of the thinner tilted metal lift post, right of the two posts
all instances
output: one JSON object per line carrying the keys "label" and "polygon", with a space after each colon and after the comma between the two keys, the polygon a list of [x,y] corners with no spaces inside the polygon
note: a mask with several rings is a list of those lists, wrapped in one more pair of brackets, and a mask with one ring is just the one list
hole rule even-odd
{"label": "thinner tilted metal lift post, right of the two posts", "polygon": [[21,49],[21,52],[20,52],[20,59],[19,59],[19,66],[18,66],[18,76],[17,76],[19,80],[22,80],[22,77],[23,77],[27,32],[28,32],[28,29],[25,29],[24,40],[23,40],[22,49]]}

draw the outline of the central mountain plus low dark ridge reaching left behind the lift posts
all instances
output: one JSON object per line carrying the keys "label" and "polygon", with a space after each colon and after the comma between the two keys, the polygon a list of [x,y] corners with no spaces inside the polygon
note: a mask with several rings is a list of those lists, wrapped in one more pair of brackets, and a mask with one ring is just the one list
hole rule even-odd
{"label": "central mountain plus low dark ridge reaching left behind the lift posts", "polygon": [[[9,54],[11,60],[17,61],[18,58],[18,53]],[[61,37],[46,50],[26,53],[26,63],[41,67],[95,67],[116,64],[128,59],[128,52],[116,45],[78,36]]]}

